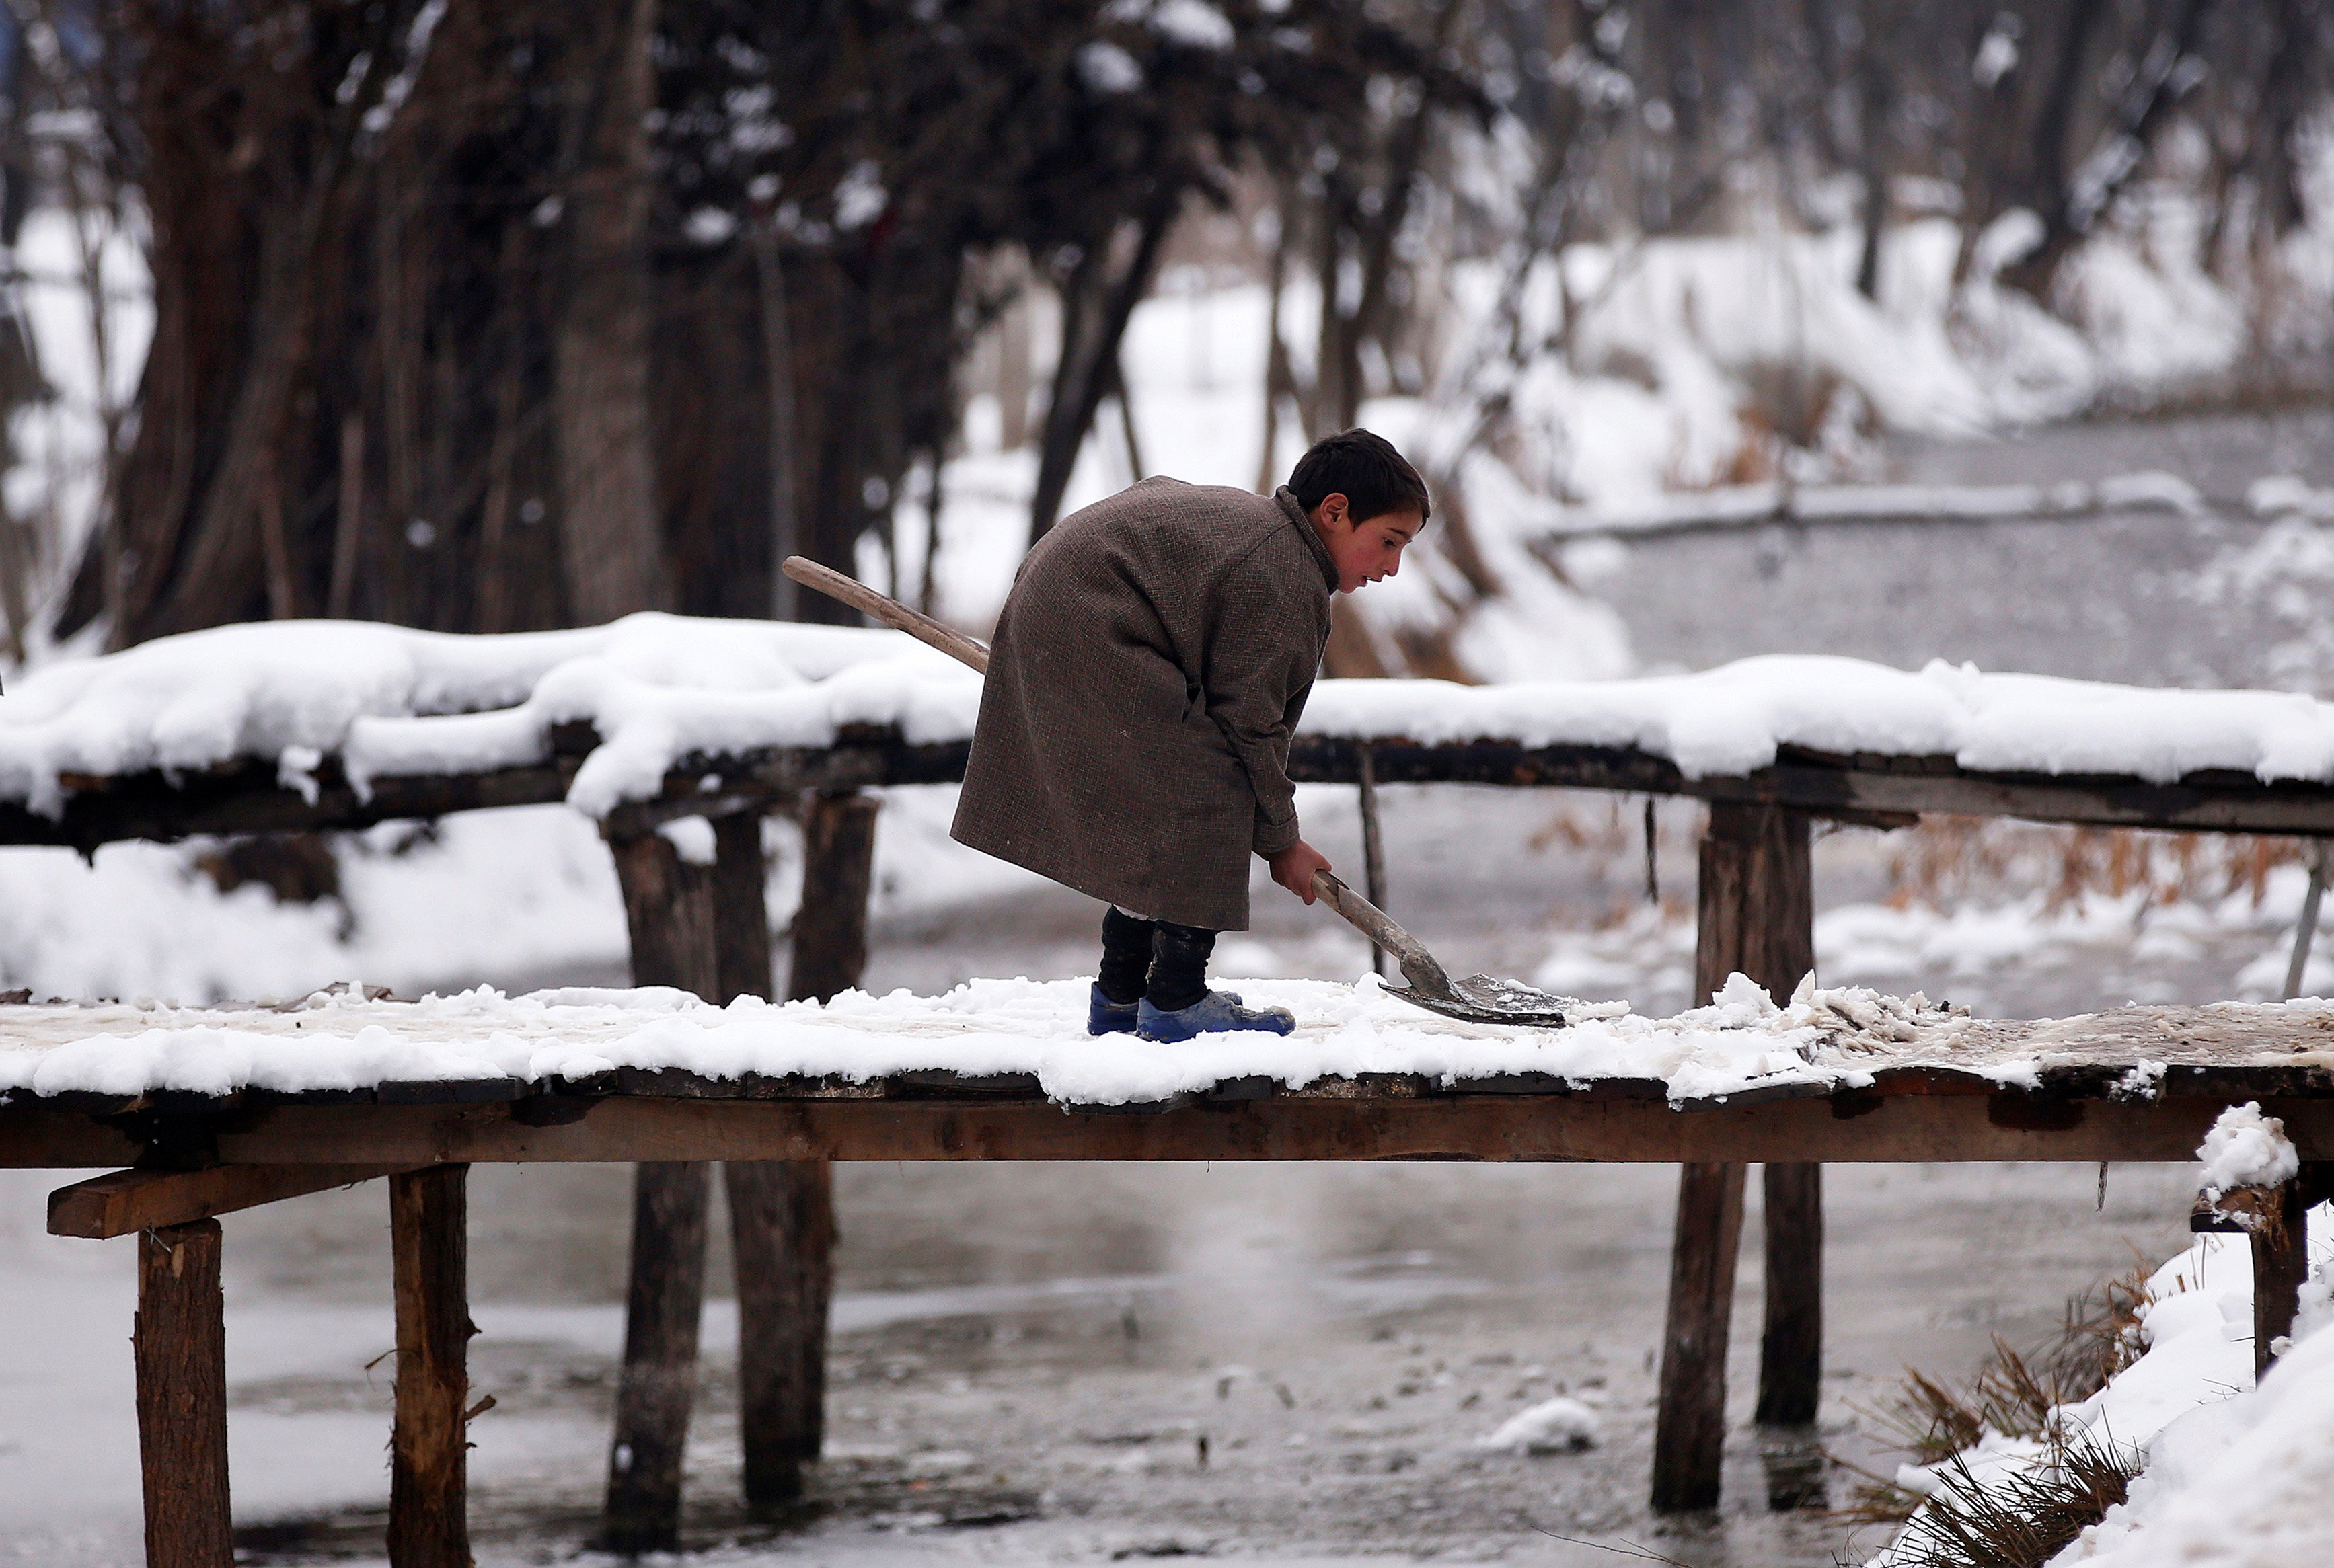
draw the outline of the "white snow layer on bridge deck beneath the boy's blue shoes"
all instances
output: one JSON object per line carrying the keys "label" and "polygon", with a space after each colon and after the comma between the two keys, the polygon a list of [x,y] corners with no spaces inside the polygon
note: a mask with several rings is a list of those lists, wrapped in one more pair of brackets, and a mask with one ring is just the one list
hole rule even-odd
{"label": "white snow layer on bridge deck beneath the boy's blue shoes", "polygon": [[[973,980],[945,996],[726,1008],[684,992],[492,989],[422,1001],[310,996],[289,1010],[201,1010],[166,1003],[26,1008],[7,1017],[0,1090],[145,1094],[236,1087],[282,1092],[376,1083],[591,1078],[614,1069],[679,1069],[707,1078],[810,1076],[861,1083],[908,1071],[1029,1073],[1062,1104],[1155,1104],[1232,1078],[1305,1087],[1321,1078],[1421,1073],[1445,1083],[1503,1073],[1659,1080],[1669,1097],[1706,1099],[1807,1083],[1856,1087],[1856,1066],[1811,1057],[1846,1027],[1842,999],[1800,989],[1779,1008],[1734,975],[1706,1008],[1650,1020],[1580,1017],[1564,1029],[1456,1024],[1389,994],[1375,975],[1242,982],[1251,1003],[1298,1015],[1293,1036],[1202,1036],[1158,1045],[1085,1034],[1085,980]],[[2031,1064],[1979,1071],[2014,1080]]]}

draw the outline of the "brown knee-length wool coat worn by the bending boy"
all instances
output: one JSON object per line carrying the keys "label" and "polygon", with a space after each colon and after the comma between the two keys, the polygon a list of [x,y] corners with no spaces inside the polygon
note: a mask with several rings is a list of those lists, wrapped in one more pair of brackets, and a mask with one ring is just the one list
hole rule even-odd
{"label": "brown knee-length wool coat worn by the bending boy", "polygon": [[952,838],[1123,910],[1249,926],[1298,840],[1288,733],[1337,567],[1274,497],[1146,478],[1057,523],[997,621]]}

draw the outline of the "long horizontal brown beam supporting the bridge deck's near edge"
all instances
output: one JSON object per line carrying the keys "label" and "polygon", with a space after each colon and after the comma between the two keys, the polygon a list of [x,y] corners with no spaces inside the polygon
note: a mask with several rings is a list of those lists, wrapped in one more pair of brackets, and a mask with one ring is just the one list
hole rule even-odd
{"label": "long horizontal brown beam supporting the bridge deck's near edge", "polygon": [[[1470,1094],[1207,1101],[1153,1113],[1046,1099],[684,1099],[273,1106],[217,1134],[229,1164],[450,1160],[1823,1160],[2192,1162],[2220,1097],[2045,1101],[1853,1092],[1671,1111],[1662,1099]],[[2262,1097],[2304,1160],[2334,1157],[2334,1101]],[[54,1148],[56,1143],[47,1143]]]}

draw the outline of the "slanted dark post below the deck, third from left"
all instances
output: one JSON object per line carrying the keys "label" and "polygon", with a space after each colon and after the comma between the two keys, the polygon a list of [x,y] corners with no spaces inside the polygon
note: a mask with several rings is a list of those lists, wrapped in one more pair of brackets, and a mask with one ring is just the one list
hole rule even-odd
{"label": "slanted dark post below the deck, third from left", "polygon": [[682,1458],[705,1307],[707,1174],[696,1160],[642,1162],[635,1174],[633,1288],[623,1309],[623,1379],[600,1540],[607,1552],[679,1547]]}

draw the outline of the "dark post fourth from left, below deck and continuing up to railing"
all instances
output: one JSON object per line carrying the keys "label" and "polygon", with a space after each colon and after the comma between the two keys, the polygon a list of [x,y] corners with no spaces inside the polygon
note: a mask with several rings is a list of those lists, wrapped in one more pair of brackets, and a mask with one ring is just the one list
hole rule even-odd
{"label": "dark post fourth from left, below deck and continuing up to railing", "polygon": [[[859,985],[868,959],[868,891],[880,803],[859,793],[803,800],[803,901],[794,917],[787,996],[817,999]],[[759,866],[759,840],[756,840]],[[724,901],[742,926],[745,901]],[[731,912],[735,910],[735,912]],[[768,922],[761,882],[754,924]],[[726,929],[726,926],[724,926]],[[761,992],[766,994],[766,992]],[[745,1500],[756,1517],[803,1496],[803,1465],[826,1440],[826,1318],[836,1283],[836,1188],[824,1160],[726,1164],[731,1251],[738,1258],[738,1402]]]}

